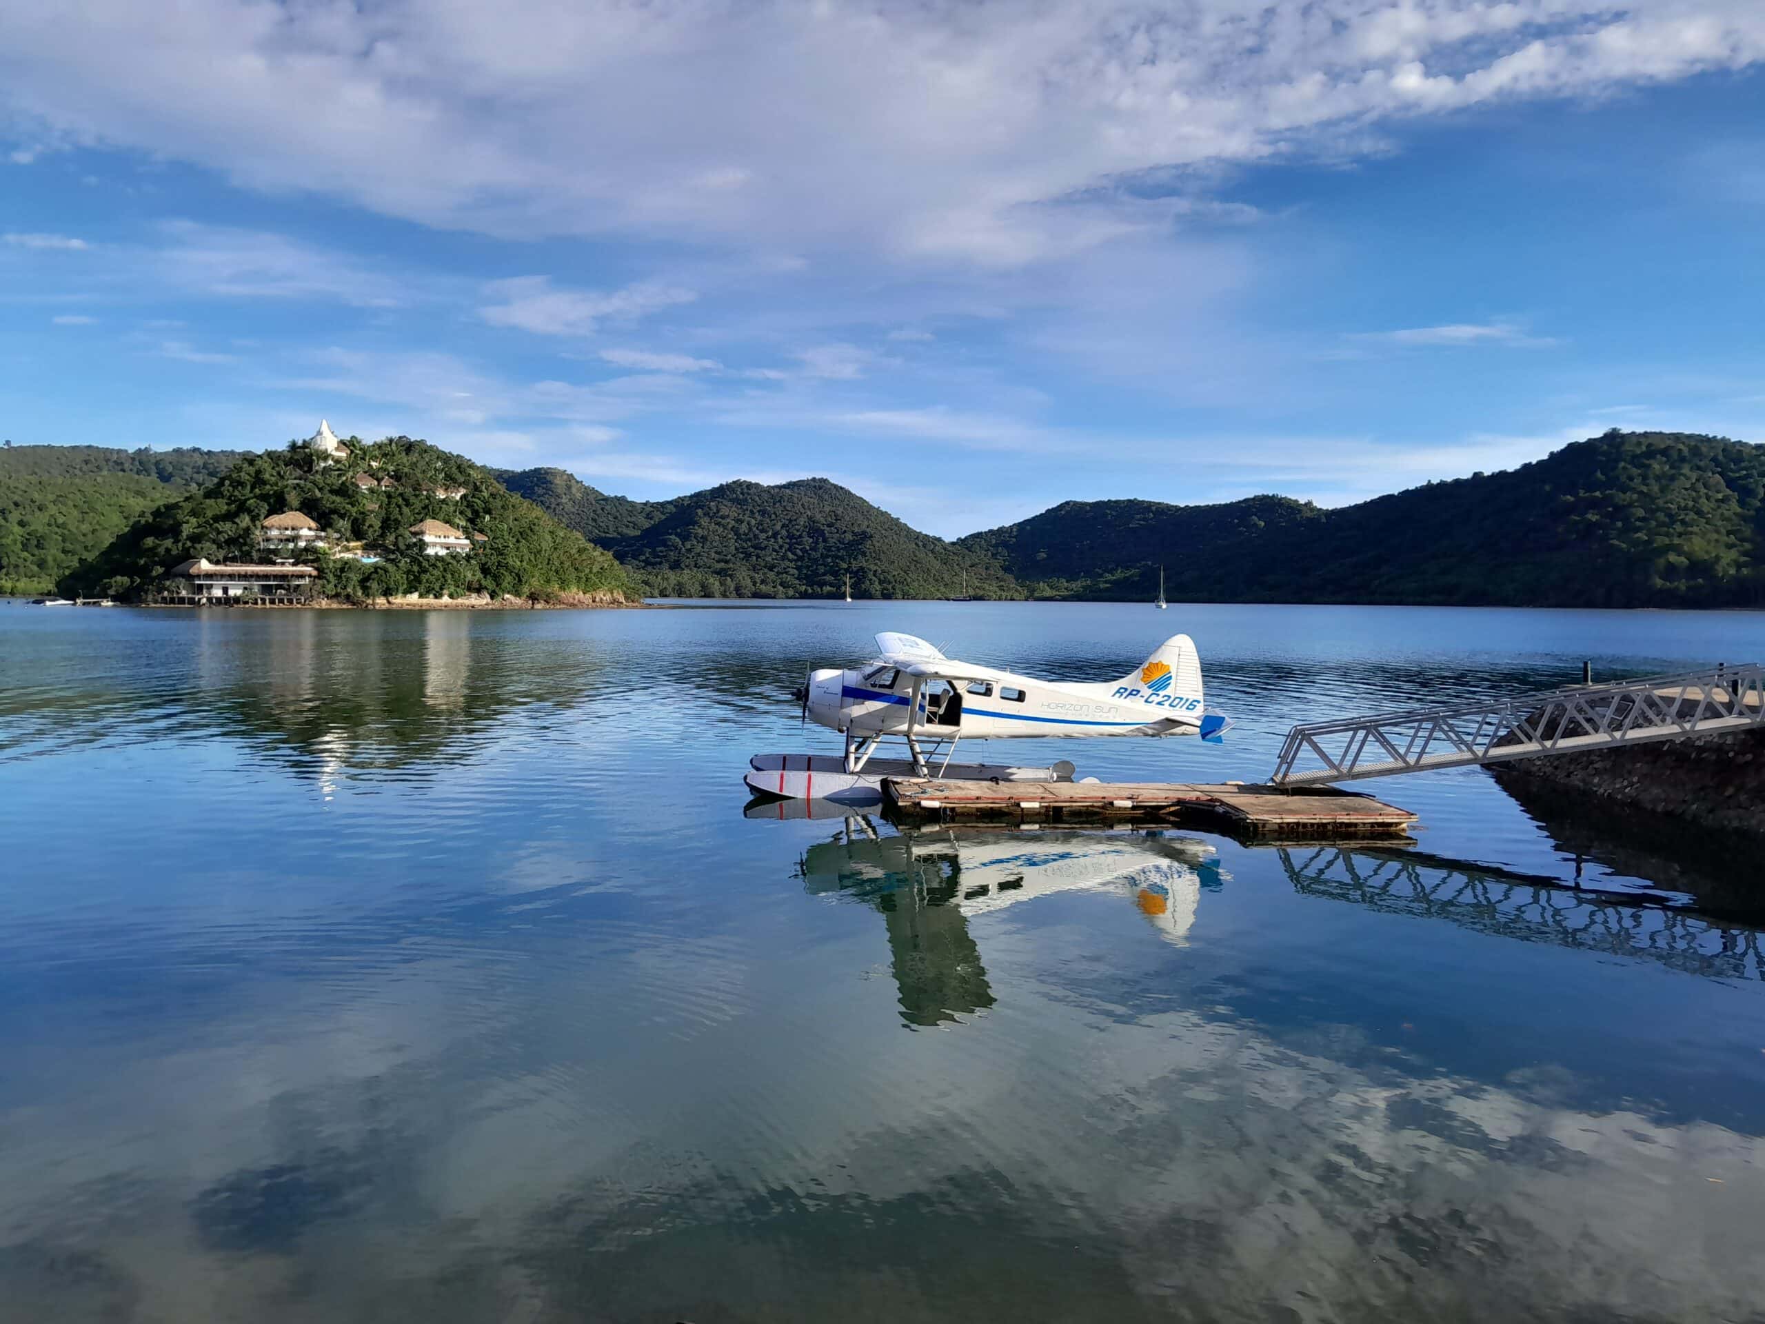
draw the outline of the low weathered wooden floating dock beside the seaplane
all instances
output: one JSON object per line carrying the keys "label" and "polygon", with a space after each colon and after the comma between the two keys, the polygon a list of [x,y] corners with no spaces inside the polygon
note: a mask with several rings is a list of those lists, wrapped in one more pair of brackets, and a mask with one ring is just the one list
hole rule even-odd
{"label": "low weathered wooden floating dock beside the seaplane", "polygon": [[1167,823],[1257,840],[1407,837],[1416,816],[1336,787],[1188,782],[943,782],[891,777],[888,807],[904,819],[1018,823]]}

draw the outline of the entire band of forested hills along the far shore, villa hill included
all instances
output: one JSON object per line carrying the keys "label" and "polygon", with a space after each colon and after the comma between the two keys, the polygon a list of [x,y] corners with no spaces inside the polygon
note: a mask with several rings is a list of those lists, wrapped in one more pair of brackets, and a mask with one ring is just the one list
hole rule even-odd
{"label": "entire band of forested hills along the far shore, villa hill included", "polygon": [[[826,478],[635,501],[563,470],[484,470],[409,438],[344,450],[335,463],[300,445],[0,452],[0,581],[138,597],[182,560],[251,554],[261,521],[300,512],[332,542],[304,563],[319,591],[346,600],[830,598],[847,581],[858,598],[1149,600],[1163,567],[1174,602],[1765,606],[1765,450],[1686,433],[1611,431],[1504,473],[1338,508],[1287,496],[1066,501],[955,542]],[[461,494],[434,494],[452,487]],[[471,556],[431,554],[411,533],[425,519],[480,535]]]}

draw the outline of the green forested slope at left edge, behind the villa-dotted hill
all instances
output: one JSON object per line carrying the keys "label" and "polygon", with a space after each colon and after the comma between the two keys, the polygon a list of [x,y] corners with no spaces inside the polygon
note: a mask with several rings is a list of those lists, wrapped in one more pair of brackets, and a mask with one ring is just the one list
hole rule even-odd
{"label": "green forested slope at left edge, behind the villa-dotted hill", "polygon": [[238,450],[0,448],[0,593],[44,593],[162,501],[226,473]]}

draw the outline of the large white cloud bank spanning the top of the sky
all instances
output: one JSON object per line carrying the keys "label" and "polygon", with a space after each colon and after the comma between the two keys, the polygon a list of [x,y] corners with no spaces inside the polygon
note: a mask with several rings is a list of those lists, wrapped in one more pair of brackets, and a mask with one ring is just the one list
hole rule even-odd
{"label": "large white cloud bank spanning the top of the sky", "polygon": [[1758,0],[14,9],[0,108],[56,141],[501,235],[981,267],[1172,224],[1140,180],[1765,56]]}

